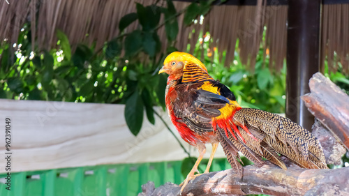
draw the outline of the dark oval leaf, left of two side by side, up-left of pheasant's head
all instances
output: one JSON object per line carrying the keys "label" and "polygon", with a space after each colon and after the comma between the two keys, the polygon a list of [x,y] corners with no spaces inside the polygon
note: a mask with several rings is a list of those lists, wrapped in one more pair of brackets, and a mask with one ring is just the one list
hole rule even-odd
{"label": "dark oval leaf, left of two side by side, up-left of pheasant's head", "polygon": [[128,34],[125,38],[124,48],[126,56],[135,55],[138,50],[142,47],[142,33],[141,31],[135,30]]}

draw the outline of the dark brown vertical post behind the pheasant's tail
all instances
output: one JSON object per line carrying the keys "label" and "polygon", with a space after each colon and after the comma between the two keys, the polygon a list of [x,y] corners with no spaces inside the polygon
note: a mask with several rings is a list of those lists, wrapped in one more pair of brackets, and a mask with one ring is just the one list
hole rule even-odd
{"label": "dark brown vertical post behind the pheasant's tail", "polygon": [[314,117],[300,96],[319,70],[320,0],[288,1],[286,117],[311,130]]}

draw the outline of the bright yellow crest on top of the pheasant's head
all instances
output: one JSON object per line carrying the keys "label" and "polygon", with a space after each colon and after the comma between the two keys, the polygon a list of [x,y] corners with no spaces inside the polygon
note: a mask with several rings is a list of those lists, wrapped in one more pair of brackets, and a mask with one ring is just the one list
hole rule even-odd
{"label": "bright yellow crest on top of the pheasant's head", "polygon": [[186,52],[172,52],[166,57],[165,61],[163,61],[163,64],[165,65],[167,63],[170,63],[171,61],[182,61],[185,64],[195,63],[207,73],[207,68],[204,66],[204,64],[199,59],[196,59],[193,55]]}

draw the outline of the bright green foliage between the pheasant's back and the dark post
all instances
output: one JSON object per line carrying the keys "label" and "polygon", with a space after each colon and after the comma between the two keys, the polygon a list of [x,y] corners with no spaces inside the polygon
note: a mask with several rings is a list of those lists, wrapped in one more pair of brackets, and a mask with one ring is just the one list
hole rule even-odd
{"label": "bright green foliage between the pheasant's back and the dark post", "polygon": [[[210,36],[206,33],[205,36]],[[204,39],[201,47],[204,50],[209,50],[210,40]],[[200,45],[200,43],[198,43]],[[281,73],[276,74],[267,68],[269,64],[269,56],[263,58],[263,49],[256,58],[255,70],[251,72],[243,65],[239,58],[239,47],[237,44],[235,52],[235,60],[229,67],[224,66],[225,53],[223,58],[219,59],[220,54],[215,50],[214,58],[208,56],[209,52],[205,52],[201,57],[201,51],[195,49],[194,56],[203,59],[203,63],[207,66],[207,70],[214,79],[219,80],[230,88],[236,98],[237,102],[242,107],[253,107],[268,112],[283,113],[285,111],[285,66]]]}

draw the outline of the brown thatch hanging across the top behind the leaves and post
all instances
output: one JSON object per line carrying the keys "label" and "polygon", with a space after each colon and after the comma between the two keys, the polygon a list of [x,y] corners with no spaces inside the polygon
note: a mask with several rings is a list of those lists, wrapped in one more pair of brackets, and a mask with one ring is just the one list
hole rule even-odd
{"label": "brown thatch hanging across the top behind the leaves and post", "polygon": [[[22,0],[9,1],[10,4],[0,1],[0,39],[7,38],[11,43],[16,43],[24,22],[31,22],[32,40],[38,41],[40,49],[56,47],[56,29],[64,31],[73,46],[82,42],[87,45],[96,43],[96,48],[102,47],[105,41],[119,35],[118,22],[127,13],[135,12],[135,2],[144,5],[153,3],[145,0]],[[165,1],[160,3],[165,4]],[[174,1],[174,6],[177,11],[183,10],[188,2]],[[176,47],[186,50],[188,43],[193,45],[198,40],[198,30],[209,31],[213,38],[211,50],[214,47],[220,52],[227,50],[227,63],[234,58],[239,38],[239,54],[243,63],[254,65],[262,44],[264,55],[268,54],[272,60],[269,67],[275,66],[279,70],[286,55],[287,15],[287,6],[265,6],[261,0],[258,0],[257,6],[214,6],[202,24],[198,22],[189,27],[183,23],[184,15],[180,15]],[[134,22],[126,31],[137,27],[137,22]],[[262,40],[264,27],[266,38]],[[195,33],[189,38],[193,29]],[[158,29],[158,34],[165,47],[165,29]],[[343,70],[348,73],[348,4],[323,6],[321,34],[322,65],[327,56],[329,68],[334,70],[341,62]]]}

